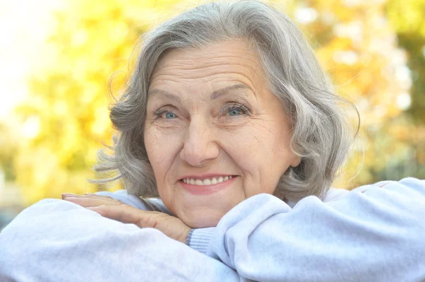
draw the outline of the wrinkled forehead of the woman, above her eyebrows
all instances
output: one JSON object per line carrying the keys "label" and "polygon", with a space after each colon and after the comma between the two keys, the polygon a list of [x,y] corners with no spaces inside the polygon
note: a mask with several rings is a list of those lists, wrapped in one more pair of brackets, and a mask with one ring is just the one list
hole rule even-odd
{"label": "wrinkled forehead of the woman, above her eyebrows", "polygon": [[159,60],[151,86],[157,82],[220,83],[236,80],[254,86],[263,81],[263,71],[254,46],[247,40],[227,40],[199,48],[173,49]]}

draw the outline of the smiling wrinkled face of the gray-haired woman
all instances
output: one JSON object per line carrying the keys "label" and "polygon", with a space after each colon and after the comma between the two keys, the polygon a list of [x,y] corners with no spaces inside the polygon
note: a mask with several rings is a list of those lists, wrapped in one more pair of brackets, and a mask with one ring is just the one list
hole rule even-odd
{"label": "smiling wrinkled face of the gray-haired woman", "polygon": [[273,194],[300,163],[283,106],[244,40],[168,52],[152,74],[144,137],[159,196],[192,228]]}

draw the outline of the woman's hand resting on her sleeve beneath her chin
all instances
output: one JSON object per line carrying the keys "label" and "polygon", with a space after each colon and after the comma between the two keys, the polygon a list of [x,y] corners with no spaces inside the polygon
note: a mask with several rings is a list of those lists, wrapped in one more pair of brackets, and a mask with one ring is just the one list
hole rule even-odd
{"label": "woman's hand resting on her sleeve beneath her chin", "polygon": [[140,228],[155,228],[171,239],[185,244],[188,233],[191,230],[188,225],[175,216],[169,216],[159,211],[143,211],[140,208],[123,204],[110,196],[62,194],[62,199],[72,201],[74,204],[96,211],[101,216],[115,221],[133,223]]}

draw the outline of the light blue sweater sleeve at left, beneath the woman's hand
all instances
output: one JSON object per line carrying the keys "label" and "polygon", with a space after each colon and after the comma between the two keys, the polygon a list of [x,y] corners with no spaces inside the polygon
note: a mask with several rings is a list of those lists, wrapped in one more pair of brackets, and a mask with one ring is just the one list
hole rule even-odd
{"label": "light blue sweater sleeve at left, beneath the woman's hand", "polygon": [[0,233],[0,281],[247,281],[166,237],[44,199]]}

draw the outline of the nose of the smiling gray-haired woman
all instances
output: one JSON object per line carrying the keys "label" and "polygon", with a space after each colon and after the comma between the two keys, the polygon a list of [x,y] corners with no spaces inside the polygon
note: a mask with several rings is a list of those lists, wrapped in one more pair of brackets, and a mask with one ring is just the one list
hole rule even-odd
{"label": "nose of the smiling gray-haired woman", "polygon": [[193,117],[186,129],[186,138],[180,158],[189,165],[203,166],[218,157],[219,148],[215,142],[215,130],[203,117]]}

